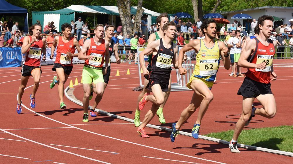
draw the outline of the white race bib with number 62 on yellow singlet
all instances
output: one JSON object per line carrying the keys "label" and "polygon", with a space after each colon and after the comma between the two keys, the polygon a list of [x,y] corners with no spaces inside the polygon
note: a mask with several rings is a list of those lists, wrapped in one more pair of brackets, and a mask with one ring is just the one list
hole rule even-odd
{"label": "white race bib with number 62 on yellow singlet", "polygon": [[212,76],[217,74],[218,70],[218,60],[208,59],[200,60],[200,76]]}

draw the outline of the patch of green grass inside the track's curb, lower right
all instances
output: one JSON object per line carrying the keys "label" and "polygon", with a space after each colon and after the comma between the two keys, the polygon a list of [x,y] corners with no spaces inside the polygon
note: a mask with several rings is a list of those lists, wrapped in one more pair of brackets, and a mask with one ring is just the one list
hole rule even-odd
{"label": "patch of green grass inside the track's curb, lower right", "polygon": [[[234,130],[209,133],[204,136],[230,141]],[[278,126],[243,130],[238,143],[293,152],[293,126]]]}

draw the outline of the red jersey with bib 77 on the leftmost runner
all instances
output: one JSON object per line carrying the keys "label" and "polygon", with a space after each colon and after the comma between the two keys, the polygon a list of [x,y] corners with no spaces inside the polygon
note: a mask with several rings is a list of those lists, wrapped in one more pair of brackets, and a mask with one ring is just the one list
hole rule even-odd
{"label": "red jersey with bib 77 on the leftmost runner", "polygon": [[[30,40],[32,40],[32,36],[28,37],[30,37]],[[43,45],[42,37],[39,37],[39,40],[35,41],[26,52],[23,64],[33,67],[40,66]]]}

